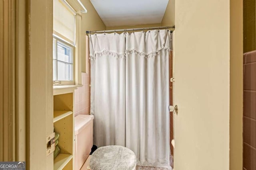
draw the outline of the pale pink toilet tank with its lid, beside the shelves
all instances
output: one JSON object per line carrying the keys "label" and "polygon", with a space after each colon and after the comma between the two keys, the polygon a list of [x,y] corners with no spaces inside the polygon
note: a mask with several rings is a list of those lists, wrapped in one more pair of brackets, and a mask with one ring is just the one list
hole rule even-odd
{"label": "pale pink toilet tank with its lid, beside the shelves", "polygon": [[77,115],[75,117],[75,170],[80,170],[91,152],[93,118],[93,115]]}

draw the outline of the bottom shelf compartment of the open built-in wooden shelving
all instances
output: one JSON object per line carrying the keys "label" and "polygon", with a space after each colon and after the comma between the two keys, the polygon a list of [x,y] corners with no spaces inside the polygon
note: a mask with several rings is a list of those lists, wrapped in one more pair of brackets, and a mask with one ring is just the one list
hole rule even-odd
{"label": "bottom shelf compartment of the open built-in wooden shelving", "polygon": [[68,164],[68,162],[70,160],[72,160],[73,155],[72,154],[58,154],[58,156],[53,160],[54,162],[54,170],[62,170],[66,164]]}

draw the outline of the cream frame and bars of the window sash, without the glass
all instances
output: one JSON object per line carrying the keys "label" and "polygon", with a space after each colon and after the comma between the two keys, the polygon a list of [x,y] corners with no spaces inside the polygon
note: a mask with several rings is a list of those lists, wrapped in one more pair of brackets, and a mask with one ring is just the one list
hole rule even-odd
{"label": "cream frame and bars of the window sash, without the glass", "polygon": [[[64,46],[67,46],[71,49],[71,55],[72,55],[72,63],[69,63],[69,64],[72,64],[73,65],[73,69],[72,69],[72,80],[58,80],[58,54],[57,54],[57,47],[58,47],[58,42]],[[55,54],[52,53],[52,55],[56,55],[56,59],[54,59],[54,56],[52,56],[52,60],[56,61],[56,69],[52,70],[53,72],[53,75],[54,75],[54,72],[56,74],[56,80],[53,80],[53,84],[54,86],[55,85],[75,85],[75,75],[76,75],[76,70],[75,70],[75,66],[76,66],[76,60],[75,60],[75,46],[71,43],[69,43],[68,41],[65,41],[64,39],[61,39],[60,37],[58,37],[57,35],[53,35],[53,42],[52,44],[54,44],[54,48],[56,49],[55,50]],[[66,63],[66,62],[63,62],[63,61],[60,61],[62,63]],[[53,78],[52,78],[53,79]]]}

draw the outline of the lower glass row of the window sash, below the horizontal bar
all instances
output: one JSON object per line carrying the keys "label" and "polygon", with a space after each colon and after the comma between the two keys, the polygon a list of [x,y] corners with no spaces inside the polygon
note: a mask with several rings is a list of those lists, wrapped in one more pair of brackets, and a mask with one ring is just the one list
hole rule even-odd
{"label": "lower glass row of the window sash, below the horizontal bar", "polygon": [[67,64],[67,63],[58,61],[57,71],[58,71],[58,80],[73,79],[73,64]]}

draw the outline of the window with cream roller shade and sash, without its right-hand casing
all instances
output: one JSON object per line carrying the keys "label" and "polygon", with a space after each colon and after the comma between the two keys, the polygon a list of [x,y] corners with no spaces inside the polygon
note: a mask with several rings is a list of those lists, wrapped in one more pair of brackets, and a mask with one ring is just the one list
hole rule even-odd
{"label": "window with cream roller shade and sash, without its right-hand casing", "polygon": [[65,0],[53,0],[54,85],[75,84],[75,19],[76,13]]}

